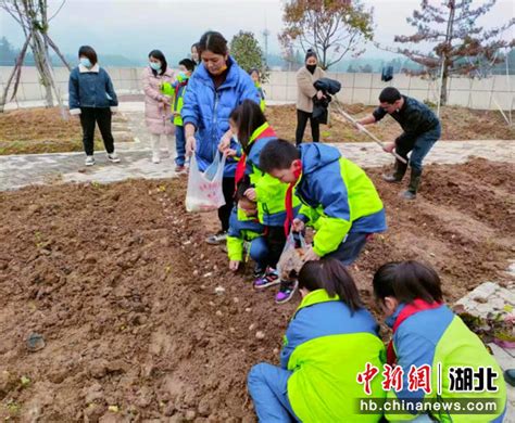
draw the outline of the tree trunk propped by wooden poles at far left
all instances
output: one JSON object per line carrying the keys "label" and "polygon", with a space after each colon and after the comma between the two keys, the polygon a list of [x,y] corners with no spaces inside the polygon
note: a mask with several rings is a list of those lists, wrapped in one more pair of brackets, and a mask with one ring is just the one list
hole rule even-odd
{"label": "tree trunk propped by wooden poles at far left", "polygon": [[65,1],[66,0],[63,0],[58,11],[51,17],[48,17],[47,0],[0,0],[0,8],[9,13],[11,17],[20,24],[25,35],[25,42],[16,57],[14,67],[5,84],[3,95],[0,99],[0,113],[3,113],[9,89],[13,82],[14,86],[11,100],[16,95],[17,87],[22,76],[22,66],[26,59],[27,49],[30,47],[41,85],[45,87],[47,106],[53,106],[53,90],[64,117],[64,107],[61,95],[59,94],[53,78],[53,69],[49,57],[49,49],[51,48],[55,54],[58,54],[58,56],[68,69],[71,69],[71,67],[59,48],[48,35],[48,29],[49,22],[61,11]]}

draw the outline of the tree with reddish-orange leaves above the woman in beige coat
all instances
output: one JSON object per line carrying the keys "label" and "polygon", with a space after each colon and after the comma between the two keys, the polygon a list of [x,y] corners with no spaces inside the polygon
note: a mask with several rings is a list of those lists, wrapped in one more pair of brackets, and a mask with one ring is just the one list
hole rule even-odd
{"label": "tree with reddish-orange leaves above the woman in beige coat", "polygon": [[373,9],[360,0],[289,0],[285,4],[285,29],[279,35],[284,50],[291,46],[313,49],[322,68],[340,62],[346,54],[357,57],[363,41],[373,38]]}

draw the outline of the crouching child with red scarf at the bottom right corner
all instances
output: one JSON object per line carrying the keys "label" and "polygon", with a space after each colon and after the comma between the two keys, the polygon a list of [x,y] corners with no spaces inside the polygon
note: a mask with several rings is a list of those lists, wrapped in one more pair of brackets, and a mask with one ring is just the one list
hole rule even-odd
{"label": "crouching child with red scarf at the bottom right corner", "polygon": [[[387,398],[414,410],[403,410],[402,415],[387,412],[386,418],[501,423],[506,412],[501,369],[481,339],[443,303],[438,273],[418,261],[388,262],[376,271],[373,284],[386,323],[393,330],[387,361],[398,377]],[[455,406],[468,410],[479,400],[494,401],[495,410],[456,412]],[[437,407],[417,412],[431,401],[438,402]],[[452,407],[445,410],[443,406]]]}

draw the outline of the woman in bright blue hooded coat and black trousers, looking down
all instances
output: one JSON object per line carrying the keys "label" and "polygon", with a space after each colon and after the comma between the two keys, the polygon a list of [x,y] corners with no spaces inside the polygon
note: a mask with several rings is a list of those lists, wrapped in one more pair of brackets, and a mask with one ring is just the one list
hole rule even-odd
{"label": "woman in bright blue hooded coat and black trousers, looking down", "polygon": [[[198,43],[202,60],[191,75],[180,112],[185,127],[186,152],[196,153],[199,169],[204,171],[219,154],[218,144],[231,141],[230,112],[243,100],[260,104],[254,82],[229,55],[227,40],[216,31],[205,33]],[[236,162],[228,158],[224,169],[223,190],[225,205],[218,208],[221,231],[209,236],[206,242],[225,242],[229,229],[230,210],[234,206]]]}

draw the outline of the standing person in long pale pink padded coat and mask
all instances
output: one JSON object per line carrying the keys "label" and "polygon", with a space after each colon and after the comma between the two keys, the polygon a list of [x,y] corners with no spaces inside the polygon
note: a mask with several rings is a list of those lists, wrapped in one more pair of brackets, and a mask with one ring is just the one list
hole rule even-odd
{"label": "standing person in long pale pink padded coat and mask", "polygon": [[149,53],[149,65],[143,70],[145,123],[150,131],[152,145],[152,163],[160,163],[160,141],[166,139],[169,156],[174,156],[174,140],[169,108],[171,99],[162,93],[164,82],[174,81],[174,73],[168,67],[164,54],[160,50]]}

